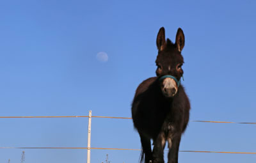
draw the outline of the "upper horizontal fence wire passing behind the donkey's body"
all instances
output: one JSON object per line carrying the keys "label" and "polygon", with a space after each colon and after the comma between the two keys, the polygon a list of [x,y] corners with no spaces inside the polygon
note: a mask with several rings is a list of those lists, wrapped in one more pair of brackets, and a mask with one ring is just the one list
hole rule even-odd
{"label": "upper horizontal fence wire passing behind the donkey's body", "polygon": [[[0,118],[88,118],[89,116],[0,116]],[[92,116],[92,118],[113,118],[113,119],[127,119],[132,118],[116,117],[116,116]],[[206,123],[240,123],[240,124],[253,124],[253,122],[234,122],[234,121],[194,121],[194,122],[206,122]]]}

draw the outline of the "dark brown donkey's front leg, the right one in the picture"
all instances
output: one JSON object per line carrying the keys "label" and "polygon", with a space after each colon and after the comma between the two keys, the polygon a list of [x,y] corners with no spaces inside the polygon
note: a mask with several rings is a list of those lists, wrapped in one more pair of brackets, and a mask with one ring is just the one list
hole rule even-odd
{"label": "dark brown donkey's front leg, the right one in the picture", "polygon": [[[181,134],[175,134],[169,141],[168,163],[178,163],[179,146]],[[170,139],[170,140],[169,140]]]}

